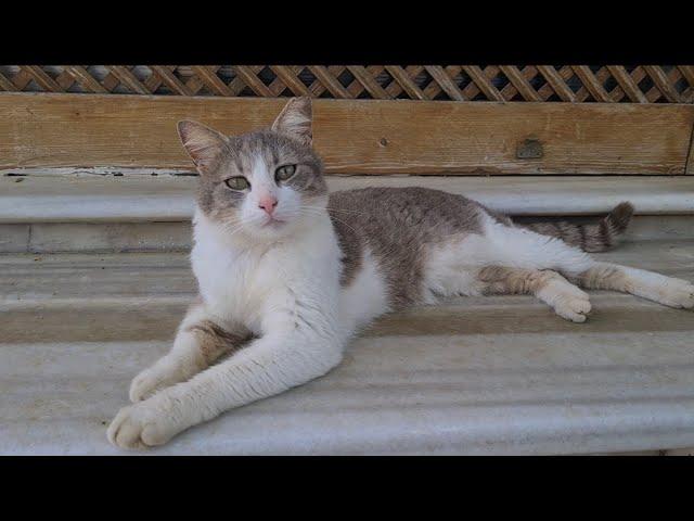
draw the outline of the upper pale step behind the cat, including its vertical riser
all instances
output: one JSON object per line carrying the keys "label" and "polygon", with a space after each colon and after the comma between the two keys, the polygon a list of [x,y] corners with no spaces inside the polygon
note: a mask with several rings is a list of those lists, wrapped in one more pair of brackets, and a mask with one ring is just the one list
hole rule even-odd
{"label": "upper pale step behind the cat, including its vertical riser", "polygon": [[[0,253],[187,251],[197,179],[183,174],[104,168],[4,171]],[[580,219],[629,200],[637,217],[625,240],[694,239],[694,176],[331,176],[329,185],[333,190],[438,188],[519,218]]]}

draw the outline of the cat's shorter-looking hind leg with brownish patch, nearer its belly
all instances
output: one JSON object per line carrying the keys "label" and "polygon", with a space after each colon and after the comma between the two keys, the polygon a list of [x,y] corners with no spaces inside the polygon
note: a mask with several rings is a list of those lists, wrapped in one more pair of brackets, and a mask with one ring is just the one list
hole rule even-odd
{"label": "cat's shorter-looking hind leg with brownish patch, nearer its belly", "polygon": [[591,309],[586,292],[549,269],[487,266],[477,274],[477,284],[483,294],[535,295],[573,322],[584,322]]}

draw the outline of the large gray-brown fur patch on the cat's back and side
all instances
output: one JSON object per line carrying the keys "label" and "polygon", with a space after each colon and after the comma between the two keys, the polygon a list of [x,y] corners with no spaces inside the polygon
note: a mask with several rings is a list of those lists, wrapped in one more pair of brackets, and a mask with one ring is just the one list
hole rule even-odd
{"label": "large gray-brown fur patch on the cat's back and side", "polygon": [[327,211],[349,284],[369,247],[397,309],[422,302],[429,247],[481,233],[483,207],[462,195],[427,188],[362,188],[330,194]]}

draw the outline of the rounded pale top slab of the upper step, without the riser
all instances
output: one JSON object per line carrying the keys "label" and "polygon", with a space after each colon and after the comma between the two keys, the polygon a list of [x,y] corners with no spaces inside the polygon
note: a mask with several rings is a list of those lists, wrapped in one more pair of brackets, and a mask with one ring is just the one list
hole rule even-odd
{"label": "rounded pale top slab of the upper step, without the riser", "polygon": [[[0,223],[183,221],[197,179],[157,169],[0,171]],[[512,215],[604,213],[629,200],[641,215],[694,214],[691,176],[329,176],[331,190],[421,186]]]}

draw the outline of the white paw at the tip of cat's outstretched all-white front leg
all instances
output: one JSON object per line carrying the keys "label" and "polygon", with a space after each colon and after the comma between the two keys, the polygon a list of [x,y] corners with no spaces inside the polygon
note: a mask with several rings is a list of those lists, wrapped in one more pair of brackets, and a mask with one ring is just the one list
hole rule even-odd
{"label": "white paw at the tip of cat's outstretched all-white front leg", "polygon": [[120,448],[147,448],[163,445],[183,429],[154,401],[121,408],[108,425],[108,441]]}

